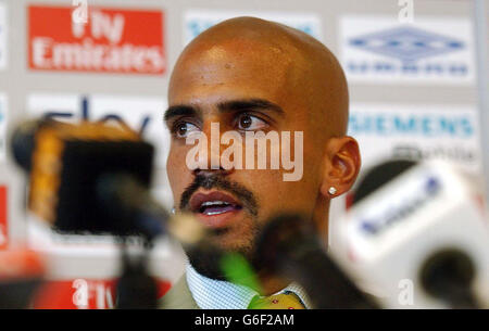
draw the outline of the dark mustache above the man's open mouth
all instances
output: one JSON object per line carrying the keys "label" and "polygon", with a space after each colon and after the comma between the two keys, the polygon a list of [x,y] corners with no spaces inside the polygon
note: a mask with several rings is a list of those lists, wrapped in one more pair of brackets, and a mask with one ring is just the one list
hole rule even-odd
{"label": "dark mustache above the man's open mouth", "polygon": [[197,175],[192,183],[188,186],[180,198],[179,209],[188,208],[190,198],[200,188],[205,190],[220,189],[233,193],[252,216],[256,217],[259,204],[254,194],[243,186],[225,179],[222,175]]}

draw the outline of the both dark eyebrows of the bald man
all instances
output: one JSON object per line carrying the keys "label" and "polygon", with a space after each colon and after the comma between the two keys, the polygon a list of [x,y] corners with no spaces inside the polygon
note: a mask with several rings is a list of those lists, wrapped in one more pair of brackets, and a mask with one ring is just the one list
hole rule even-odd
{"label": "both dark eyebrows of the bald man", "polygon": [[[262,110],[272,111],[277,115],[284,117],[284,110],[276,103],[273,103],[264,99],[242,99],[242,100],[230,100],[220,102],[217,104],[217,110],[221,113],[228,112],[240,112],[240,111],[251,111],[251,110]],[[199,116],[201,110],[193,105],[177,104],[172,105],[165,111],[164,120],[168,122],[176,116]]]}

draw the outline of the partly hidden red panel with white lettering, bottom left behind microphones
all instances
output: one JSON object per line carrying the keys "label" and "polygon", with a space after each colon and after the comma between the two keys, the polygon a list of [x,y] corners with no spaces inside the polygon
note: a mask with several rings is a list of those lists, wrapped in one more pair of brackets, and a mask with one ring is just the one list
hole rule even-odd
{"label": "partly hidden red panel with white lettering, bottom left behind microphones", "polygon": [[[156,279],[158,297],[170,290],[171,283]],[[48,281],[37,291],[33,301],[35,309],[113,309],[116,280],[73,279]]]}

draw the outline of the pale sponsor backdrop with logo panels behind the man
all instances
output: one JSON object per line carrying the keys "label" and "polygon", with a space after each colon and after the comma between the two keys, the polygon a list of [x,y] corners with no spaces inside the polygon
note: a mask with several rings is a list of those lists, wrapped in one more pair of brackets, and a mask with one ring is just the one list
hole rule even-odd
{"label": "pale sponsor backdrop with logo panels behind the man", "polygon": [[[86,15],[72,2],[0,0],[0,186],[9,193],[0,207],[9,212],[9,245],[30,230],[22,208],[25,177],[5,153],[5,135],[32,116],[124,122],[140,131],[158,145],[154,195],[172,207],[162,119],[172,67],[198,34],[238,15],[299,28],[338,56],[349,80],[350,132],[365,167],[402,154],[451,160],[480,175],[471,1],[415,0],[412,23],[399,21],[403,5],[392,0],[88,0]],[[343,198],[331,207],[334,245]],[[79,246],[46,249],[54,282],[49,289],[67,293],[50,307],[111,307],[106,293],[118,272],[117,254],[93,243],[66,245]],[[181,252],[164,244],[154,253],[161,281],[176,281],[184,270]]]}

